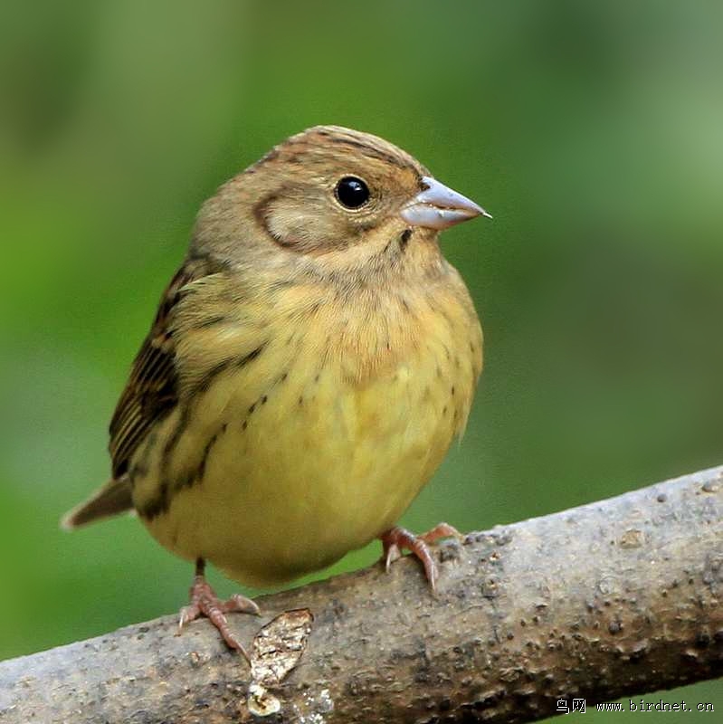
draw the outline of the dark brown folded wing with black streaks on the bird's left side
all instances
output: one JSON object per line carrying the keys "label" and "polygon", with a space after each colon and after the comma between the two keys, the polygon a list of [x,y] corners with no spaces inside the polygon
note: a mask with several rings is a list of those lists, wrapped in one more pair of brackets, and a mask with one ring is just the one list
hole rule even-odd
{"label": "dark brown folded wing with black streaks on the bird's left side", "polygon": [[156,320],[133,363],[128,385],[110,422],[109,451],[116,480],[128,472],[130,458],[153,424],[176,405],[176,346],[169,318],[186,285],[209,273],[210,263],[204,259],[186,262],[161,298]]}

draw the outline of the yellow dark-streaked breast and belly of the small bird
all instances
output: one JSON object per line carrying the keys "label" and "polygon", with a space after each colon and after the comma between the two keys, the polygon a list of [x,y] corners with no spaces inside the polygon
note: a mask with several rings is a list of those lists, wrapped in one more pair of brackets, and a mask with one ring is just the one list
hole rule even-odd
{"label": "yellow dark-streaked breast and belly of the small bird", "polygon": [[[262,307],[188,343],[206,376],[191,366],[194,395],[139,450],[134,486],[163,545],[253,585],[326,567],[393,527],[463,429],[481,368],[456,272],[354,309],[299,289]],[[209,376],[204,347],[236,363]]]}

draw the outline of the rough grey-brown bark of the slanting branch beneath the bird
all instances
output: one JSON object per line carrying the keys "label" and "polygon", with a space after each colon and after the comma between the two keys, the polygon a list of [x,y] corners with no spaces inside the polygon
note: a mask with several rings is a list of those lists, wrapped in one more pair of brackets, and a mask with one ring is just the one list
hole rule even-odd
{"label": "rough grey-brown bark of the slanting branch beneath the bird", "polygon": [[[723,467],[265,597],[309,607],[298,667],[248,708],[250,672],[207,622],[176,619],[0,663],[0,720],[43,722],[532,721],[723,675]],[[249,642],[265,620],[234,616]],[[252,707],[254,710],[254,707]]]}

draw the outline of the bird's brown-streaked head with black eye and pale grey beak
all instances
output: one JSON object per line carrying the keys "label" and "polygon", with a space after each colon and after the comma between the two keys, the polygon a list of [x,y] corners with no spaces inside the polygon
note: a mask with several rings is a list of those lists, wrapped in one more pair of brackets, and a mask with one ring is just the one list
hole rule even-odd
{"label": "bird's brown-streaked head with black eye and pale grey beak", "polygon": [[318,126],[222,186],[195,236],[231,261],[281,253],[333,273],[399,266],[415,245],[436,253],[440,230],[480,214],[489,215],[383,138]]}

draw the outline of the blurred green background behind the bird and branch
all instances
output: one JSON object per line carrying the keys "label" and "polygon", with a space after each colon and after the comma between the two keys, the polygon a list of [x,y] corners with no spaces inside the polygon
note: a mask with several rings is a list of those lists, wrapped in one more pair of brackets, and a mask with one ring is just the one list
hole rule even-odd
{"label": "blurred green background behind the bird and branch", "polygon": [[[486,369],[405,524],[487,528],[723,462],[720,3],[0,12],[0,659],[184,603],[190,568],[137,520],[57,520],[106,479],[198,206],[317,123],[389,138],[495,217],[443,239]],[[716,714],[646,721],[723,712],[720,682],[683,697]]]}

